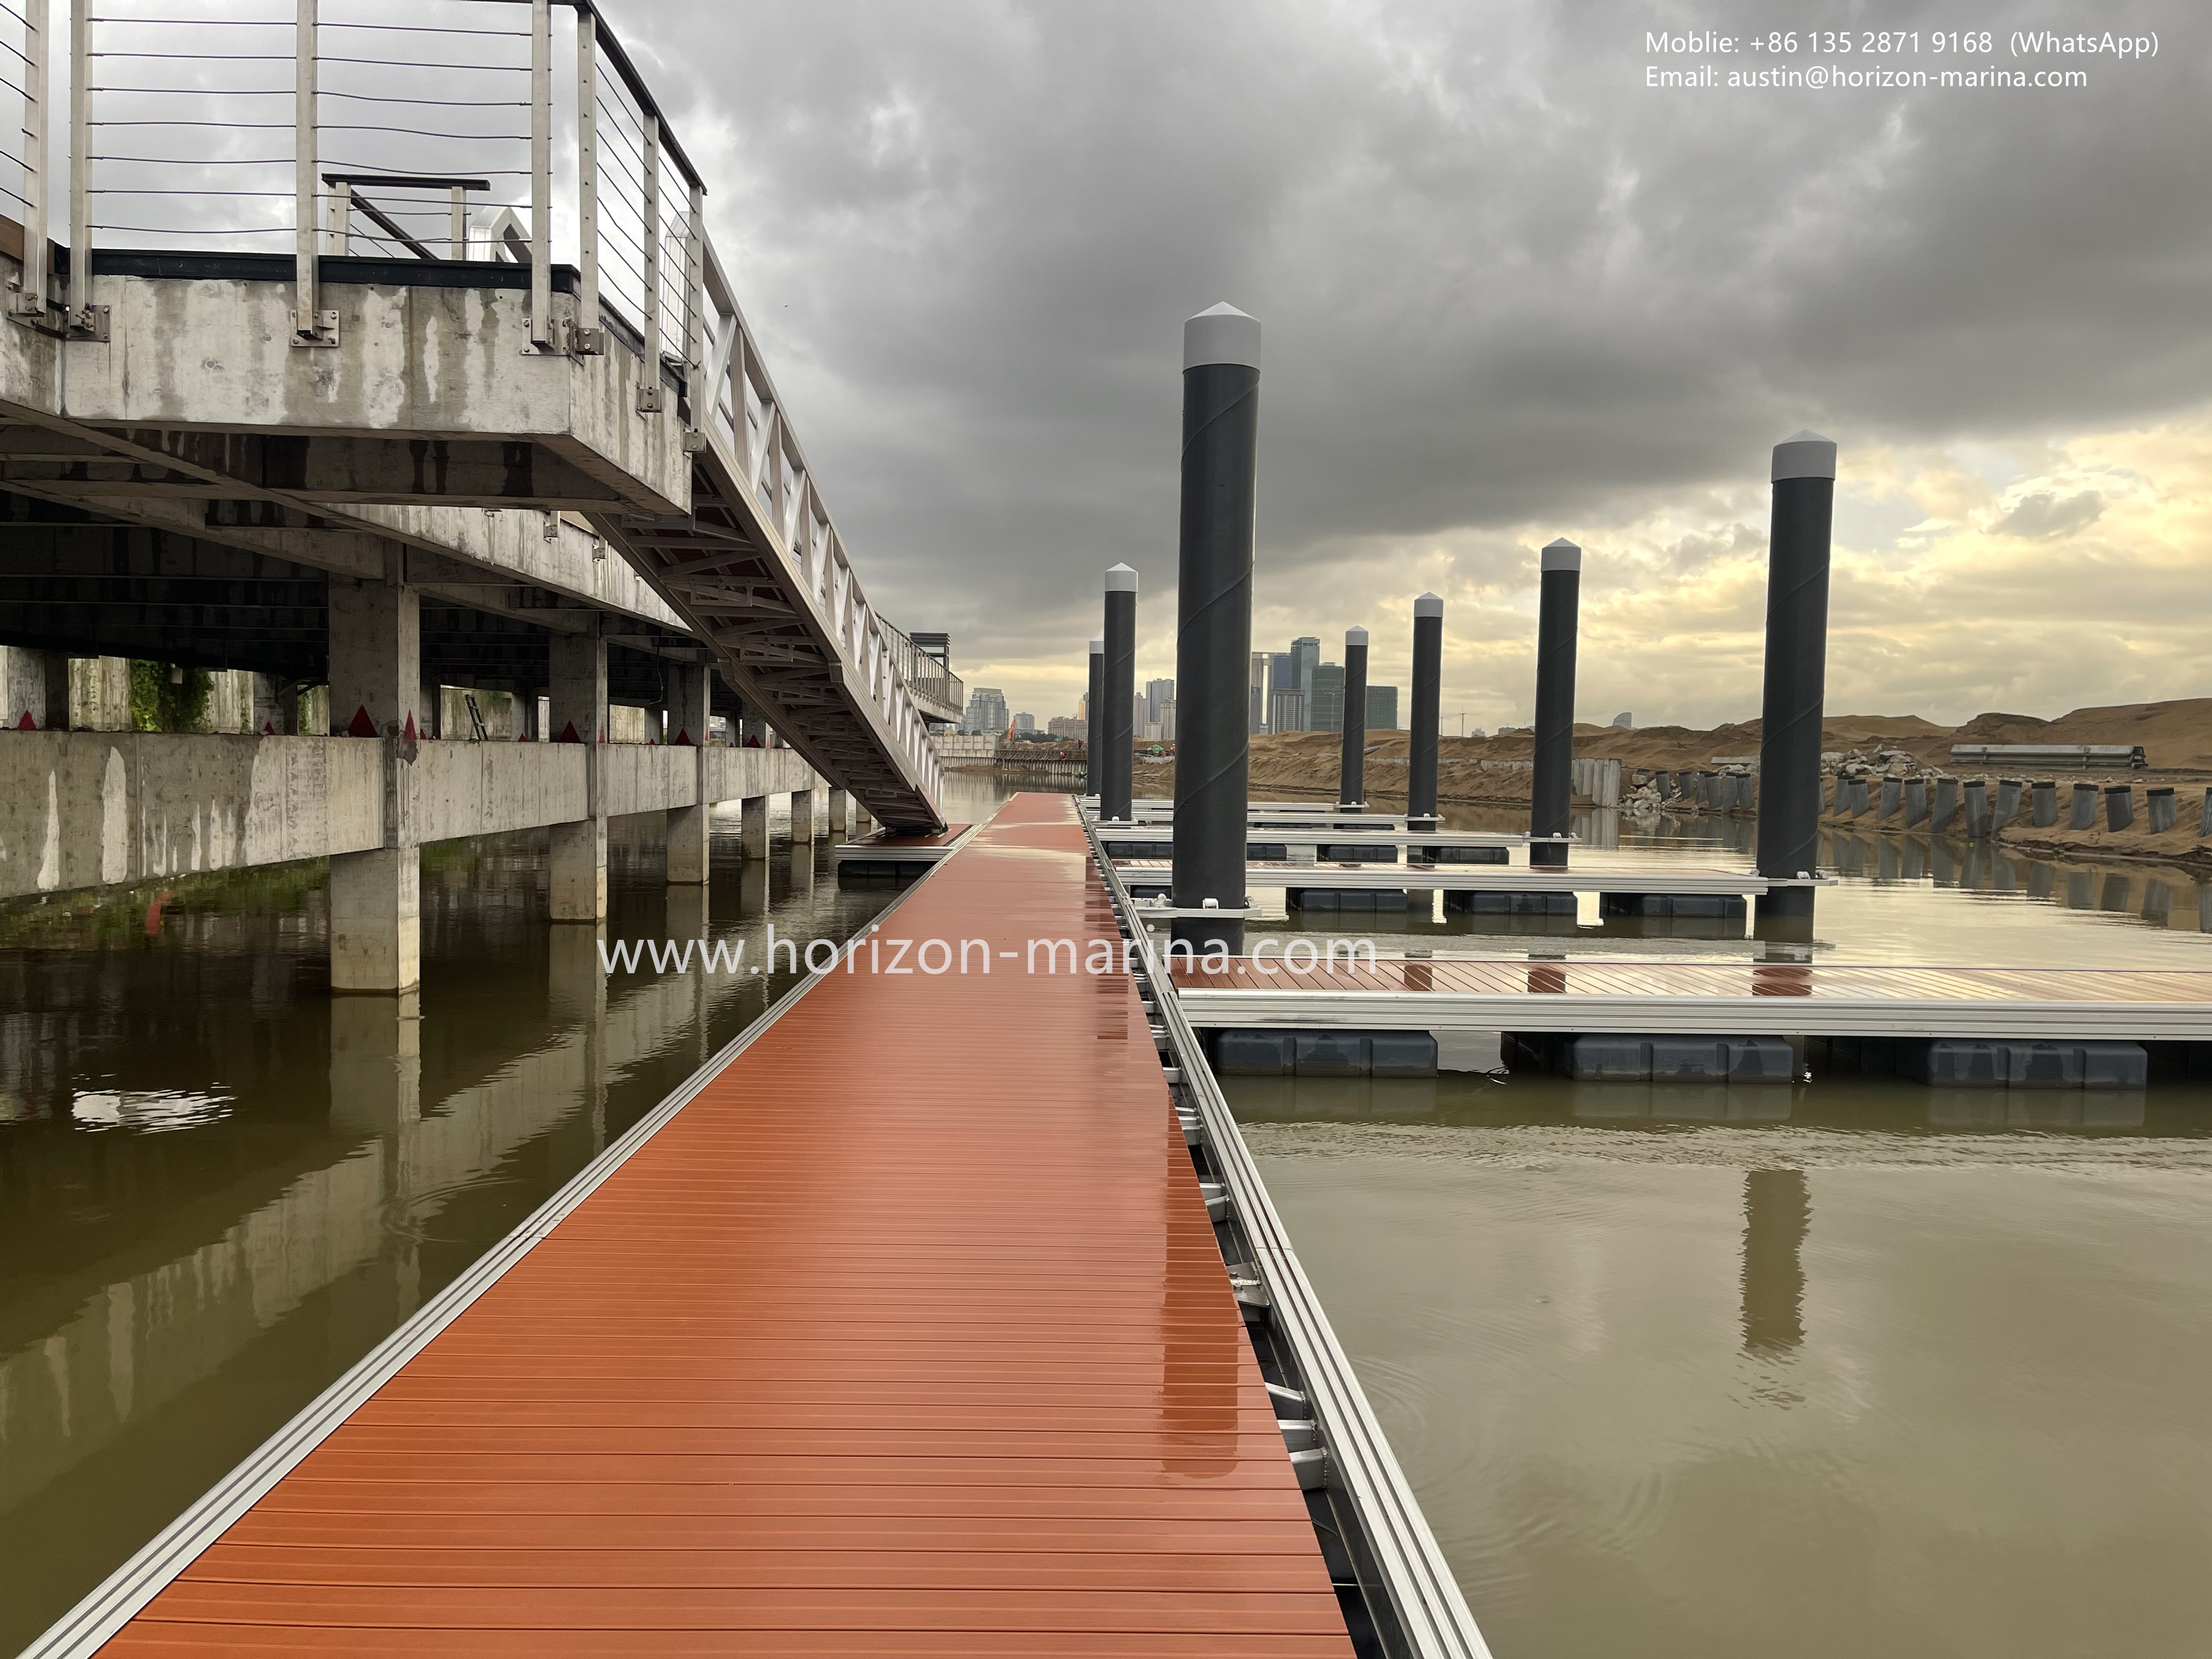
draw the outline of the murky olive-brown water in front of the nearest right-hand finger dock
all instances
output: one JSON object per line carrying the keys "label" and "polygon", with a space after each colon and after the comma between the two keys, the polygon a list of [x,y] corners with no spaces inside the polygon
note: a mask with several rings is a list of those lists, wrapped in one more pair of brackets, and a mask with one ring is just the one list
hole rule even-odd
{"label": "murky olive-brown water in front of the nearest right-hand finger dock", "polygon": [[1498,1652],[2201,1650],[2203,1084],[1225,1086]]}

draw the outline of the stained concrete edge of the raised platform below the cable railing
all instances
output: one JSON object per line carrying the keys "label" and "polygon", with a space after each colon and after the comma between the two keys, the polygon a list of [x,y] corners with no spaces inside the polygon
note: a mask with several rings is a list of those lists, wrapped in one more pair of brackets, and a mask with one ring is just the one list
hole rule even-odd
{"label": "stained concrete edge of the raised platform below the cable railing", "polygon": [[[111,338],[71,343],[51,414],[177,471],[332,500],[688,511],[679,420],[637,414],[657,363],[619,345],[588,358],[533,349],[526,290],[349,283],[332,259],[323,299],[338,343],[299,352],[290,257],[268,261],[265,279],[250,261],[175,254],[153,274],[128,254],[102,259],[93,301]],[[553,307],[555,327],[575,323],[573,296]],[[246,447],[226,442],[239,434]]]}

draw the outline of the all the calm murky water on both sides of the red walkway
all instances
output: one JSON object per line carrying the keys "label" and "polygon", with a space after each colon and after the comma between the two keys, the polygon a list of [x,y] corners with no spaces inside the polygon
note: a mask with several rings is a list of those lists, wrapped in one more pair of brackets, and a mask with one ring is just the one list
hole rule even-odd
{"label": "all the calm murky water on both sides of the red walkway", "polygon": [[[991,810],[956,787],[953,816]],[[783,845],[741,865],[734,827],[701,918],[653,834],[617,825],[608,936],[703,922],[757,960],[770,922],[843,938],[889,898]],[[1659,830],[1582,825],[1626,838],[1608,858],[1747,852],[1747,827]],[[1865,874],[1823,894],[1812,947],[1568,918],[1376,931],[2212,964],[2183,872],[1924,838],[1834,860]],[[325,993],[307,867],[0,914],[0,1652],[787,982],[606,980],[588,929],[546,922],[542,872],[529,836],[431,849],[407,1006]],[[2205,1093],[1245,1079],[1234,1104],[1504,1659],[2203,1650]]]}

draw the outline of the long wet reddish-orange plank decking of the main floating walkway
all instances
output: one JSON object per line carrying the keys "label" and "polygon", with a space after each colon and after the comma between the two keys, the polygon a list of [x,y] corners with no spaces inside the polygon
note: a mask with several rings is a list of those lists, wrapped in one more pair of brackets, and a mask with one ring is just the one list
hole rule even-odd
{"label": "long wet reddish-orange plank decking of the main floating walkway", "polygon": [[[1117,933],[1029,794],[883,938]],[[1130,980],[1022,967],[818,982],[106,1652],[1349,1655]]]}

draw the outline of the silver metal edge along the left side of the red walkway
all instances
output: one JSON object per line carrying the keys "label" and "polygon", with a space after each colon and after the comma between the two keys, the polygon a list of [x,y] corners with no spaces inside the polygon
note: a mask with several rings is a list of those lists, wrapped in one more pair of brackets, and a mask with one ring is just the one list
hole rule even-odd
{"label": "silver metal edge along the left side of the red walkway", "polygon": [[[953,845],[967,843],[975,830],[971,827]],[[931,867],[931,874],[936,867]],[[907,898],[925,883],[929,876],[905,887],[898,898],[885,905],[876,916],[838,947],[838,958],[825,969],[807,973],[805,980],[794,984],[774,1004],[761,1013],[750,1026],[739,1031],[719,1053],[714,1053],[699,1071],[686,1077],[659,1106],[637,1119],[628,1133],[622,1135],[613,1146],[599,1152],[591,1164],[577,1170],[560,1192],[546,1199],[538,1210],[533,1210],[524,1221],[515,1225],[500,1243],[478,1256],[469,1267],[453,1279],[445,1290],[431,1296],[414,1316],[394,1329],[383,1343],[372,1347],[361,1360],[354,1363],[345,1376],[323,1389],[314,1400],[310,1400],[299,1416],[283,1425],[276,1433],[263,1440],[237,1469],[223,1475],[215,1486],[201,1493],[177,1520],[164,1526],[150,1542],[146,1542],[128,1562],[117,1566],[108,1577],[77,1606],[64,1613],[38,1641],[22,1650],[18,1659],[82,1659],[84,1655],[97,1652],[117,1630],[122,1630],[139,1608],[153,1601],[168,1584],[184,1573],[199,1555],[210,1548],[230,1526],[319,1444],[327,1440],[336,1429],[358,1411],[369,1396],[374,1396],[385,1383],[389,1383],[407,1360],[420,1354],[429,1343],[469,1305],[491,1290],[507,1272],[522,1261],[540,1239],[544,1239],[553,1228],[557,1228],[577,1206],[584,1203],[599,1186],[615,1175],[624,1164],[628,1164],[639,1148],[646,1146],[655,1135],[659,1135],[668,1121],[681,1113],[701,1088],[706,1088],[714,1077],[728,1068],[745,1048],[750,1048],[759,1037],[781,1020],[799,998],[812,991],[821,980],[830,978],[845,964],[845,951],[858,940],[865,940],[869,931],[883,925]]]}

